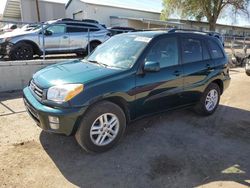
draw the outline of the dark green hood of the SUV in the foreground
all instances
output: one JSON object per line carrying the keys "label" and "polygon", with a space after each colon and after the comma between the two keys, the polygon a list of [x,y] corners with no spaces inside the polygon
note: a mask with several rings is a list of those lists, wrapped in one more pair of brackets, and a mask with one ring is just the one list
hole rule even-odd
{"label": "dark green hood of the SUV in the foreground", "polygon": [[117,72],[121,72],[121,70],[74,60],[48,66],[35,73],[33,79],[40,87],[49,88],[60,84],[86,84]]}

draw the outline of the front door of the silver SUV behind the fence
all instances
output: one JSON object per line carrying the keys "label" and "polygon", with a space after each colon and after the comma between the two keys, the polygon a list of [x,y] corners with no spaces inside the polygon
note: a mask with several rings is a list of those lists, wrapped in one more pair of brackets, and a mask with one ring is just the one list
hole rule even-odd
{"label": "front door of the silver SUV behind the fence", "polygon": [[66,33],[65,25],[60,24],[47,27],[44,40],[47,52],[60,52],[69,49],[69,36]]}

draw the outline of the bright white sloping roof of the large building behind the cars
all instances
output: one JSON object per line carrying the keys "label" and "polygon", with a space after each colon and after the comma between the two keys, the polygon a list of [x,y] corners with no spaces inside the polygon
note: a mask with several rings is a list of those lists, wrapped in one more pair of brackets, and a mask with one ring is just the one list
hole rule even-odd
{"label": "bright white sloping roof of the large building behind the cars", "polygon": [[[73,0],[69,0],[66,4],[66,9],[70,5]],[[161,0],[143,0],[143,1],[134,1],[134,0],[80,0],[81,2],[87,4],[94,4],[94,5],[103,5],[109,7],[118,7],[123,9],[131,9],[131,10],[138,10],[138,11],[146,11],[152,13],[161,13],[162,1]]]}

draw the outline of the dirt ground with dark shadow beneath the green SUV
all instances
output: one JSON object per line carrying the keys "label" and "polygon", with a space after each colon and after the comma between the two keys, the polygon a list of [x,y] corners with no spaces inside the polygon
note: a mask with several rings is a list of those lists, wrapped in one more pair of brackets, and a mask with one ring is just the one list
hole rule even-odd
{"label": "dirt ground with dark shadow beneath the green SUV", "polygon": [[0,187],[250,187],[250,77],[231,71],[217,112],[168,112],[130,125],[91,155],[41,131],[21,93],[0,94]]}

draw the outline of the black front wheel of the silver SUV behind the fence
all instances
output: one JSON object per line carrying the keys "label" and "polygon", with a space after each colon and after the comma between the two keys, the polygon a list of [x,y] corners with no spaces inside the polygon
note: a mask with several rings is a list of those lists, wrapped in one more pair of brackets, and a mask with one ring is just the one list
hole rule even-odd
{"label": "black front wheel of the silver SUV behind the fence", "polygon": [[12,46],[9,53],[11,60],[30,60],[33,59],[34,50],[31,45],[20,42]]}

